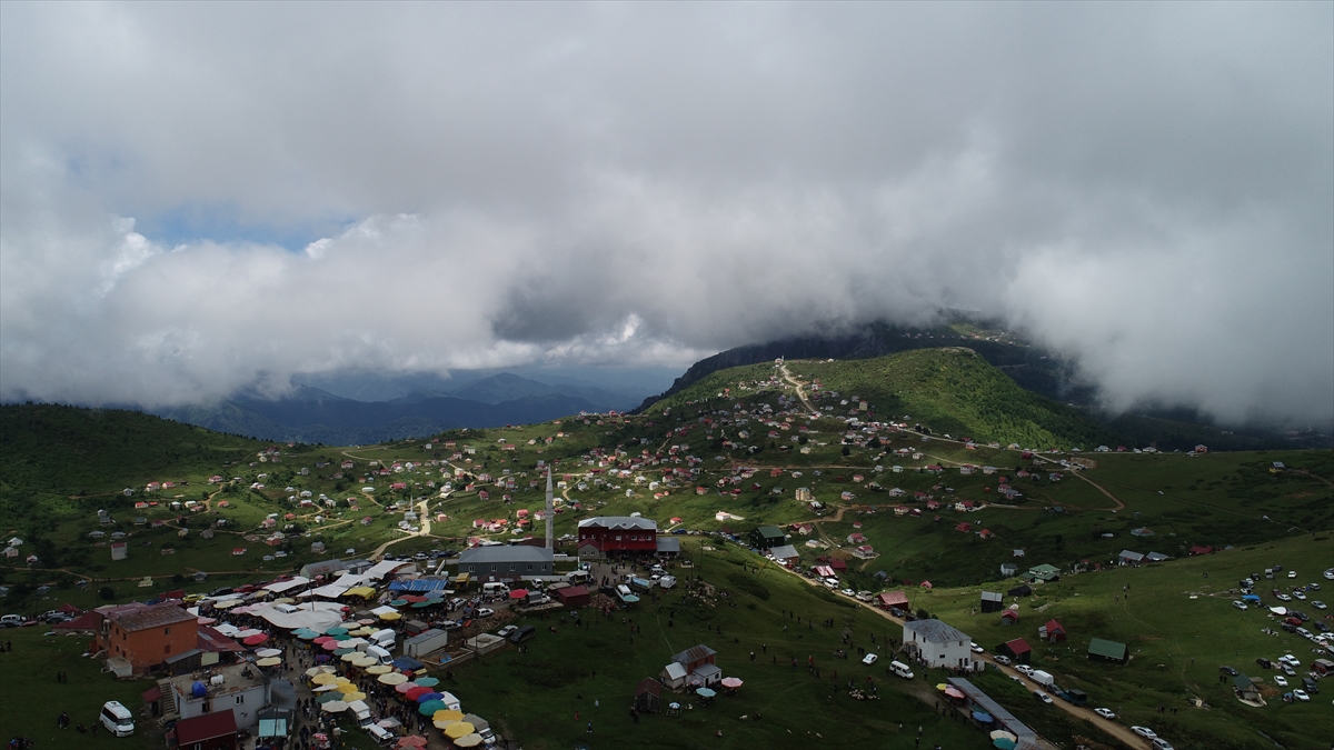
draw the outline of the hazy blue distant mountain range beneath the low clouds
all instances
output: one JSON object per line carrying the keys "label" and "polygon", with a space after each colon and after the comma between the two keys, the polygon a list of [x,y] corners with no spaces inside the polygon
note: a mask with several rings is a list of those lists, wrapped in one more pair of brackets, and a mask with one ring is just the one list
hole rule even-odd
{"label": "hazy blue distant mountain range beneath the low clouds", "polygon": [[635,395],[623,392],[591,386],[548,386],[502,372],[452,392],[414,391],[379,402],[297,386],[280,399],[243,394],[212,406],[171,407],[153,414],[233,435],[347,446],[458,427],[530,424],[580,411],[626,410],[635,400]]}

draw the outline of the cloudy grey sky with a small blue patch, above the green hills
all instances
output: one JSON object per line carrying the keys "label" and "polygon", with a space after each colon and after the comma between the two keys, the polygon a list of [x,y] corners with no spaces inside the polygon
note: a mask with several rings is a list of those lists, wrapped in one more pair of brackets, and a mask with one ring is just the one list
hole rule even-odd
{"label": "cloudy grey sky with a small blue patch, above the green hills", "polygon": [[[1334,4],[0,4],[0,396],[975,308],[1334,415]],[[296,239],[292,239],[296,238]]]}

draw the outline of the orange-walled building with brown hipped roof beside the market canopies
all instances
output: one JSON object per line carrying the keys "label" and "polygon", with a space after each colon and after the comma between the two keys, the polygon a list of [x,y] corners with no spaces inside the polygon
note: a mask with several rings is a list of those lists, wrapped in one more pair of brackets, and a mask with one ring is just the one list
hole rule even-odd
{"label": "orange-walled building with brown hipped roof beside the market canopies", "polygon": [[129,662],[135,674],[199,646],[199,619],[175,602],[103,611],[97,646],[108,659]]}

